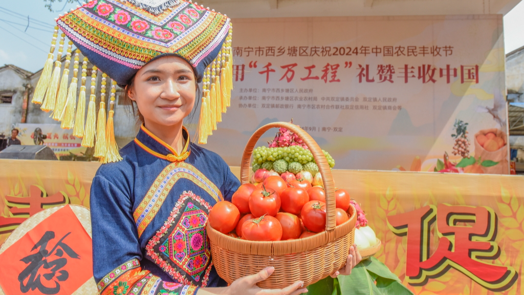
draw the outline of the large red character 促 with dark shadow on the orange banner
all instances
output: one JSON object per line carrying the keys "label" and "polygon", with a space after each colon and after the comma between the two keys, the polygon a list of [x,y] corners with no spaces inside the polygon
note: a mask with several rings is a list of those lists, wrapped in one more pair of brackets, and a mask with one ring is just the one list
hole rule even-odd
{"label": "large red character \u4fc3 with dark shadow on the orange banner", "polygon": [[[431,225],[435,219],[440,239],[438,248],[430,254]],[[389,216],[388,224],[396,235],[408,236],[406,276],[410,285],[423,286],[429,278],[440,277],[451,267],[494,292],[507,290],[517,280],[512,267],[481,260],[492,260],[499,255],[494,241],[497,216],[491,208],[430,205]]]}

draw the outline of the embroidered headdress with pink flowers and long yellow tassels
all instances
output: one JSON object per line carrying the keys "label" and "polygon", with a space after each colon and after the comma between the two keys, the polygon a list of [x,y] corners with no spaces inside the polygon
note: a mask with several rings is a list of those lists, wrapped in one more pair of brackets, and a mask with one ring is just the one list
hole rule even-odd
{"label": "embroidered headdress with pink flowers and long yellow tassels", "polygon": [[[59,30],[62,31],[60,36]],[[61,72],[65,37],[69,44]],[[127,85],[141,67],[155,58],[177,55],[189,62],[196,79],[203,85],[198,134],[199,143],[206,143],[231,102],[231,38],[230,18],[191,1],[94,0],[57,19],[48,59],[32,102],[41,104],[46,112],[53,111],[52,118],[62,121],[62,128],[73,129],[73,135],[83,138],[82,146],[94,145],[95,156],[102,162],[119,161],[122,158],[113,130],[116,85]],[[78,49],[74,53],[73,78],[68,86],[73,45]],[[80,53],[84,59],[77,104]],[[84,128],[88,60],[94,67]],[[96,118],[97,70],[103,74],[100,110]],[[107,78],[111,78],[112,83],[106,123]]]}

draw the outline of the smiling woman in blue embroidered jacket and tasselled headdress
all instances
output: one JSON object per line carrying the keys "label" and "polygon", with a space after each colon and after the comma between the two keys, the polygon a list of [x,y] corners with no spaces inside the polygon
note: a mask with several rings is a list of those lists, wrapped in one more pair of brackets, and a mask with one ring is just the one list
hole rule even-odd
{"label": "smiling woman in blue embroidered jacket and tasselled headdress", "polygon": [[[198,103],[196,93],[202,80],[199,141],[205,141],[220,120],[227,99],[216,89],[222,89],[219,85],[224,85],[227,74],[231,74],[227,68],[227,52],[231,52],[230,20],[181,0],[160,1],[156,7],[148,6],[150,0],[134,0],[133,5],[118,0],[94,2],[59,18],[58,24],[93,64],[125,87],[142,123],[136,139],[121,150],[123,160],[102,165],[93,179],[93,272],[99,292],[114,295],[307,292],[302,282],[282,290],[258,288],[256,283],[268,278],[274,271],[272,267],[240,278],[230,286],[217,276],[213,267],[205,231],[207,216],[216,202],[231,200],[239,181],[219,155],[191,142],[183,120]],[[149,22],[145,22],[146,17]],[[126,20],[129,20],[127,26]],[[205,23],[209,25],[202,27]],[[106,24],[110,25],[100,28]],[[83,30],[88,26],[91,30]],[[157,50],[156,53],[150,58],[138,58],[133,66],[129,62],[132,55],[126,50],[135,43],[112,31],[115,26],[117,33],[126,28],[134,30],[133,34],[142,33],[141,41],[151,40],[151,44],[142,45]],[[146,27],[150,28],[149,34],[144,33]],[[89,35],[96,29],[100,30],[97,37],[112,33],[115,34],[112,38],[122,38],[113,44],[108,44],[113,42],[112,38],[101,42]],[[159,47],[160,42],[150,37],[160,30],[161,38],[166,39],[162,41],[169,45],[167,49]],[[177,30],[189,33],[171,38]],[[230,33],[223,34],[224,31]],[[101,46],[105,46],[104,50]],[[191,52],[188,47],[196,51]],[[114,58],[118,54],[123,55],[121,59]],[[106,137],[107,142],[110,138]],[[333,276],[348,275],[360,259],[352,247],[346,266]]]}

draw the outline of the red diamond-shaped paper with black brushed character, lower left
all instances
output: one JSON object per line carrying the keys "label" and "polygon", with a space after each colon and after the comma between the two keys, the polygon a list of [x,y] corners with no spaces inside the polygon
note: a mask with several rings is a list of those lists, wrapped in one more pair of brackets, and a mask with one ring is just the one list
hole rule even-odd
{"label": "red diamond-shaped paper with black brushed character, lower left", "polygon": [[6,295],[70,295],[93,276],[91,237],[69,205],[0,254]]}

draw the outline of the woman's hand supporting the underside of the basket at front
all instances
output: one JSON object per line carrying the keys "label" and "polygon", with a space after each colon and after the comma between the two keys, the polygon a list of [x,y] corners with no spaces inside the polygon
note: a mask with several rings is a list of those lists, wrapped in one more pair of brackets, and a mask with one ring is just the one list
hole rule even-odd
{"label": "woman's hand supporting the underside of the basket at front", "polygon": [[304,282],[298,281],[283,289],[261,289],[257,286],[275,271],[274,267],[266,267],[255,275],[239,278],[225,288],[201,288],[198,294],[227,294],[227,295],[298,295],[307,293],[303,288]]}

